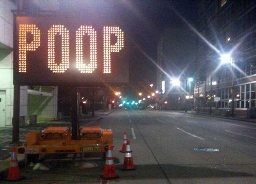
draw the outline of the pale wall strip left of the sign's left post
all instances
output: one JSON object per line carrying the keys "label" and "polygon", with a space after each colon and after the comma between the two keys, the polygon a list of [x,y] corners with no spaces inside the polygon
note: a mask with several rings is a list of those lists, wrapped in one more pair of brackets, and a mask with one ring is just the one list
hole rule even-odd
{"label": "pale wall strip left of the sign's left post", "polygon": [[[13,116],[13,14],[16,5],[0,0],[0,90],[5,92],[5,111],[0,127],[11,126]],[[3,112],[3,110],[2,110]]]}

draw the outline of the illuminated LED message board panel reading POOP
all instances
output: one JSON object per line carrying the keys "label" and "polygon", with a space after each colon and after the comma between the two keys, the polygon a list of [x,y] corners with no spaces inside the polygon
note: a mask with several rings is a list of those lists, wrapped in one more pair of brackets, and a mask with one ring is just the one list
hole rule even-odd
{"label": "illuminated LED message board panel reading POOP", "polygon": [[14,84],[128,81],[126,41],[118,25],[52,16],[16,16],[15,24]]}

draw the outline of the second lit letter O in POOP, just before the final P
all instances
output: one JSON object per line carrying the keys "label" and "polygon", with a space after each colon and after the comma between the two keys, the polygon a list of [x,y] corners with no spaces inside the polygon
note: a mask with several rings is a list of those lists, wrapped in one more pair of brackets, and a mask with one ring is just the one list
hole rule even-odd
{"label": "second lit letter O in POOP, just before the final P", "polygon": [[[90,63],[83,62],[83,35],[90,36]],[[92,73],[97,68],[97,32],[91,26],[81,26],[76,31],[76,68],[81,73]]]}

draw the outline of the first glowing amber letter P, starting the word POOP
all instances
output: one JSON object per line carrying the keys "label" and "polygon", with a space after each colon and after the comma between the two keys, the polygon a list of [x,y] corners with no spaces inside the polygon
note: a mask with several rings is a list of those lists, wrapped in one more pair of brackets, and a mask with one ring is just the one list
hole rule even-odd
{"label": "first glowing amber letter P, starting the word POOP", "polygon": [[[27,43],[27,32],[33,35],[33,41]],[[27,72],[27,51],[35,51],[40,46],[40,30],[34,24],[19,25],[19,73]]]}

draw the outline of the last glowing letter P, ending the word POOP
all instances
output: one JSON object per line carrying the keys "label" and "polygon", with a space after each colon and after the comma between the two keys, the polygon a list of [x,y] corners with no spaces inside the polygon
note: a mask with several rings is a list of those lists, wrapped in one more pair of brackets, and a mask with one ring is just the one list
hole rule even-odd
{"label": "last glowing letter P, ending the word POOP", "polygon": [[[117,37],[115,45],[111,45],[111,34]],[[119,27],[104,27],[104,71],[111,73],[111,52],[119,52],[124,46],[124,34]]]}

